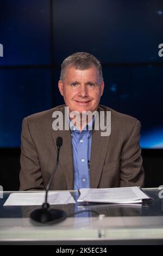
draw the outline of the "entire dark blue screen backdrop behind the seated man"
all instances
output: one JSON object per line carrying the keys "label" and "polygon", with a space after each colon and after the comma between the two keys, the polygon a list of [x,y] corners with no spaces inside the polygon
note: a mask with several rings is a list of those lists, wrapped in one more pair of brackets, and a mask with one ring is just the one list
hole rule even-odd
{"label": "entire dark blue screen backdrop behind the seated man", "polygon": [[161,0],[1,0],[0,147],[20,147],[23,117],[63,103],[60,64],[102,62],[101,103],[141,121],[142,148],[163,148]]}

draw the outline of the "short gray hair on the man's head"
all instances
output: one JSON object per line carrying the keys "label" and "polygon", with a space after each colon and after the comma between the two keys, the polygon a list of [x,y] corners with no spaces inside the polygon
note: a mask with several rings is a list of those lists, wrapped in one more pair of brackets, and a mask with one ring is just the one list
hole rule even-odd
{"label": "short gray hair on the man's head", "polygon": [[68,56],[61,64],[60,80],[63,82],[65,80],[65,74],[67,68],[74,67],[75,69],[85,70],[89,69],[92,66],[98,71],[99,79],[102,83],[103,81],[103,72],[102,66],[99,60],[90,53],[87,52],[76,52]]}

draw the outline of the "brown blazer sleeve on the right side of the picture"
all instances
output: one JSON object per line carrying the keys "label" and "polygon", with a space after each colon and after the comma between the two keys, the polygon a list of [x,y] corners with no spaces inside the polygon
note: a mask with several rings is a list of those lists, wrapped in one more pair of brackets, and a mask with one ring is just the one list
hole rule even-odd
{"label": "brown blazer sleeve on the right side of the picture", "polygon": [[127,142],[122,148],[120,187],[144,186],[145,173],[140,148],[140,121],[136,120]]}

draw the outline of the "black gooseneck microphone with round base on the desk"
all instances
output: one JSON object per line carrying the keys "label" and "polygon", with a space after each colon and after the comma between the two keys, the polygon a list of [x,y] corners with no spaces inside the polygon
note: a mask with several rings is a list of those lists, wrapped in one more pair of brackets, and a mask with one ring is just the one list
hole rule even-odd
{"label": "black gooseneck microphone with round base on the desk", "polygon": [[55,164],[55,167],[53,169],[51,178],[49,179],[49,182],[46,186],[46,195],[45,195],[45,203],[42,204],[42,208],[41,209],[36,209],[34,211],[31,212],[30,214],[30,218],[33,221],[39,222],[39,223],[57,223],[60,221],[65,220],[65,218],[67,217],[66,212],[62,211],[62,210],[58,210],[58,209],[49,209],[50,205],[47,203],[47,196],[48,196],[48,191],[49,191],[49,187],[51,186],[54,174],[57,170],[58,167],[58,162],[59,162],[59,153],[60,153],[60,148],[62,146],[62,138],[58,137],[56,140],[56,145],[57,145],[57,161]]}

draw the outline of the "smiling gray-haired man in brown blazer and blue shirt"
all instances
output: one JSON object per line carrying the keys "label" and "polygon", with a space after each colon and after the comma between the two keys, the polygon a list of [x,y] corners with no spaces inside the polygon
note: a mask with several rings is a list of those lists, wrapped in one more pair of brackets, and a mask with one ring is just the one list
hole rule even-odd
{"label": "smiling gray-haired man in brown blazer and blue shirt", "polygon": [[[20,190],[45,190],[57,158],[57,137],[62,137],[60,159],[51,190],[83,187],[143,186],[140,122],[99,105],[104,90],[102,68],[89,53],[78,52],[61,65],[58,83],[65,105],[24,118],[22,124]],[[65,106],[69,112],[65,113]],[[62,113],[70,128],[56,128],[54,113]],[[91,112],[78,123],[71,113]],[[111,113],[111,132],[95,129],[98,113]],[[56,120],[56,119],[55,119]]]}

